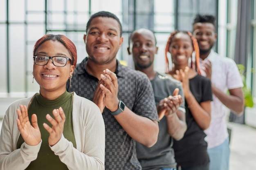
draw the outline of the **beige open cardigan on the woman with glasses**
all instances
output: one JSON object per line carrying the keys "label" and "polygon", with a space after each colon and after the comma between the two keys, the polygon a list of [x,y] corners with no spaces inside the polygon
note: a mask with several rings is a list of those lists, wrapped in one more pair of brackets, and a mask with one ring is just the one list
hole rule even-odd
{"label": "beige open cardigan on the woman with glasses", "polygon": [[[73,126],[76,148],[64,136],[50,147],[69,170],[104,170],[105,124],[99,107],[92,101],[74,93]],[[28,106],[32,97],[13,102],[7,109],[0,134],[0,170],[24,170],[37,158],[41,142],[29,146],[25,142],[20,149],[16,143],[20,136],[16,119],[19,105]]]}

